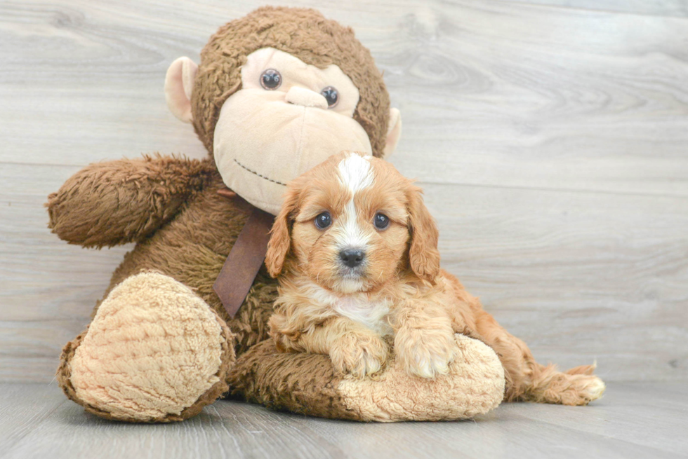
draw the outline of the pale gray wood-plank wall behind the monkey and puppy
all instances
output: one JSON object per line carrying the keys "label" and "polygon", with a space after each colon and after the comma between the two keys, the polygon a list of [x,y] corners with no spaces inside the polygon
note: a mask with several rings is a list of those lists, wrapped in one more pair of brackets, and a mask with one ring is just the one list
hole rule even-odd
{"label": "pale gray wood-plank wall behind the monkey and puppy", "polygon": [[[102,159],[204,156],[165,71],[261,4],[0,1],[0,381],[51,381],[130,248],[58,240],[48,193]],[[444,267],[538,359],[688,378],[688,1],[290,4],[371,49]]]}

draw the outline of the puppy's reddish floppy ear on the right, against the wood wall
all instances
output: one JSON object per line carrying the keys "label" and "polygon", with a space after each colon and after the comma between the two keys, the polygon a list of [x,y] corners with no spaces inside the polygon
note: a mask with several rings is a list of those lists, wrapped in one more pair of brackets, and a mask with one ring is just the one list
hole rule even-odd
{"label": "puppy's reddish floppy ear on the right, against the wood wall", "polygon": [[409,198],[409,265],[419,278],[432,280],[439,273],[439,250],[437,239],[439,231],[428,207],[423,203],[423,191],[418,186],[410,185]]}

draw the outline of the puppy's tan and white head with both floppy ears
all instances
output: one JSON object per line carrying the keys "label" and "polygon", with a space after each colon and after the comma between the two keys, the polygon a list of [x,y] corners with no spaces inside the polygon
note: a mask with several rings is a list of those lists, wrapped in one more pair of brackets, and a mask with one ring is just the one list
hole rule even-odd
{"label": "puppy's tan and white head with both floppy ears", "polygon": [[298,273],[343,293],[381,287],[407,267],[423,278],[439,270],[421,190],[359,153],[340,153],[291,182],[268,246],[272,275],[286,256]]}

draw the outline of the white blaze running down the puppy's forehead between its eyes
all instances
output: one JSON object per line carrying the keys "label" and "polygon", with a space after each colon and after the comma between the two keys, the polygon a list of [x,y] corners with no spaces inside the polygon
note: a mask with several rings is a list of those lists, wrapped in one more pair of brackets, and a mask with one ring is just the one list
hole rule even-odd
{"label": "white blaze running down the puppy's forehead between its eyes", "polygon": [[340,249],[355,247],[366,249],[369,237],[363,231],[357,221],[357,210],[354,196],[358,191],[364,190],[373,184],[373,168],[370,164],[371,156],[359,156],[350,154],[340,161],[338,165],[339,181],[351,192],[351,199],[342,215],[343,225],[338,228],[337,243]]}

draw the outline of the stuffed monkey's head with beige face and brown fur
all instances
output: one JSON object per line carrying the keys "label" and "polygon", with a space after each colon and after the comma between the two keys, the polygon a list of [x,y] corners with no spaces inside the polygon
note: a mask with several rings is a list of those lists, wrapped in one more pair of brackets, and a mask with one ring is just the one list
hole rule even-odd
{"label": "stuffed monkey's head with beige face and brown fur", "polygon": [[291,179],[342,150],[379,158],[401,133],[369,50],[314,10],[259,8],[171,64],[168,106],[193,123],[225,184],[277,214]]}

